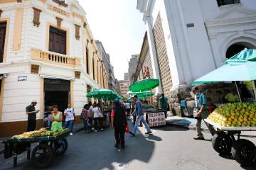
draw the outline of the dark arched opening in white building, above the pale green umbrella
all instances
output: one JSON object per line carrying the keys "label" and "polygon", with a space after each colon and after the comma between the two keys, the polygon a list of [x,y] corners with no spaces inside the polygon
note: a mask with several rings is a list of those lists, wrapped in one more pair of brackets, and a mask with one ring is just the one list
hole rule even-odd
{"label": "dark arched opening in white building, above the pale green umbrella", "polygon": [[233,45],[230,45],[230,47],[228,47],[228,50],[226,52],[226,58],[229,59],[230,57],[233,57],[234,55],[238,54],[242,50],[245,50],[245,48],[250,49],[254,47],[253,45],[247,42],[238,42]]}

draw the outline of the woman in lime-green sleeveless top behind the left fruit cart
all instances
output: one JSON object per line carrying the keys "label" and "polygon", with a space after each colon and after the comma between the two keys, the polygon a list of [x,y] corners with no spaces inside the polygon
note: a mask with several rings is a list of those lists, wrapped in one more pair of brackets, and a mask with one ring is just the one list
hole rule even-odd
{"label": "woman in lime-green sleeveless top behind the left fruit cart", "polygon": [[63,113],[58,111],[58,106],[53,105],[53,112],[51,113],[50,121],[52,122],[50,130],[62,130]]}

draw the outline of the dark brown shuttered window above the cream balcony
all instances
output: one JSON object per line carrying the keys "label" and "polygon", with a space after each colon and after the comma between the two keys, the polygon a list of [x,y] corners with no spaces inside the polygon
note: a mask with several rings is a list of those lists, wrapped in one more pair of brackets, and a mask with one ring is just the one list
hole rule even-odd
{"label": "dark brown shuttered window above the cream balcony", "polygon": [[49,51],[66,55],[66,32],[64,30],[50,27]]}

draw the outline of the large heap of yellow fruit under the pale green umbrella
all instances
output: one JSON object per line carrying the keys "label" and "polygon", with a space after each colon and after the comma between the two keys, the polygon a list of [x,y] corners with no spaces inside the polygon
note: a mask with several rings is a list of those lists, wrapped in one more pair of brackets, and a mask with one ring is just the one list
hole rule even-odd
{"label": "large heap of yellow fruit under the pale green umbrella", "polygon": [[208,119],[223,127],[254,127],[256,103],[227,103],[210,113]]}

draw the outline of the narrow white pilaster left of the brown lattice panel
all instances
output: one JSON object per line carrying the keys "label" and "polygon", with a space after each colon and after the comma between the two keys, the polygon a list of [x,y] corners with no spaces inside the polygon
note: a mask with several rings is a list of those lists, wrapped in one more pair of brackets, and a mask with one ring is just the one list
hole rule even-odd
{"label": "narrow white pilaster left of the brown lattice panel", "polygon": [[163,89],[161,88],[159,63],[158,63],[157,55],[156,55],[153,26],[152,26],[152,23],[150,20],[151,20],[151,17],[148,17],[146,19],[146,32],[147,32],[147,38],[149,40],[149,52],[150,52],[150,58],[151,58],[151,63],[152,63],[152,69],[153,69],[153,78],[159,79],[159,86],[156,88],[156,94],[162,94]]}

